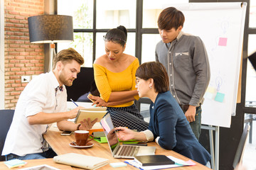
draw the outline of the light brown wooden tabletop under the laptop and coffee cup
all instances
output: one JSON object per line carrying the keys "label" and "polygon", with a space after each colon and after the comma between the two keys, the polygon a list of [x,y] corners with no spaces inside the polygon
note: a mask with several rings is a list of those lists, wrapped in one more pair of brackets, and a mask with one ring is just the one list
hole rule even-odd
{"label": "light brown wooden tabletop under the laptop and coffee cup", "polygon": [[[60,131],[58,128],[51,127],[50,130],[44,135],[46,141],[50,145],[50,147],[53,148],[53,150],[58,154],[67,154],[70,152],[77,153],[77,154],[85,154],[85,155],[90,155],[93,157],[102,157],[110,160],[110,163],[112,162],[124,162],[126,159],[114,159],[112,157],[112,154],[110,152],[110,148],[107,145],[107,143],[100,144],[99,142],[96,142],[95,140],[92,140],[91,142],[94,144],[92,147],[89,148],[75,148],[75,147],[70,147],[70,142],[75,141],[75,136],[70,135],[70,136],[61,136]],[[156,154],[165,154],[166,156],[173,156],[178,159],[182,159],[184,161],[188,161],[189,159],[187,157],[184,157],[181,154],[178,154],[172,150],[166,150],[162,149],[159,147],[159,145],[156,145],[155,142],[149,142],[149,146],[154,146],[156,147]],[[78,169],[73,167],[73,169]],[[102,166],[100,169],[114,169],[110,164],[106,166]],[[127,165],[126,167],[120,167],[118,170],[122,169],[136,169],[134,166]],[[195,166],[183,166],[183,167],[178,167],[178,168],[171,168],[173,170],[209,170],[206,166],[203,166],[202,164],[199,164],[196,162]]]}

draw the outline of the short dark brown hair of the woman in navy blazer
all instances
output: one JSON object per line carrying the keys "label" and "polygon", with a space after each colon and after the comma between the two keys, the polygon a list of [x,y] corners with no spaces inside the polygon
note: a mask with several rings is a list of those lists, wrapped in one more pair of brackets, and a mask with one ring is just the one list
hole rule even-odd
{"label": "short dark brown hair of the woman in navy blazer", "polygon": [[144,80],[154,79],[154,88],[158,93],[169,91],[169,77],[160,62],[144,62],[137,69],[135,76]]}

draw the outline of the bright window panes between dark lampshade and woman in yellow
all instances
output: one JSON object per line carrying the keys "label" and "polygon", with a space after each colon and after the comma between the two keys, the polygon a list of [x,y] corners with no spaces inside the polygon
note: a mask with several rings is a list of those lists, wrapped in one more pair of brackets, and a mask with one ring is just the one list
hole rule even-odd
{"label": "bright window panes between dark lampshade and woman in yellow", "polygon": [[[73,28],[92,29],[93,1],[68,0],[58,1],[58,15],[73,16]],[[84,57],[85,67],[92,67],[93,34],[91,31],[74,33],[74,42],[60,42],[57,44],[58,52],[68,47],[73,47]]]}

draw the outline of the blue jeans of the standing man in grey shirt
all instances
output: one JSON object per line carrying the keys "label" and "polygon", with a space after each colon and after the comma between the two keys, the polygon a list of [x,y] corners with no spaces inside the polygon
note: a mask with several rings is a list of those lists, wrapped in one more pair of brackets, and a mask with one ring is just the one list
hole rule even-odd
{"label": "blue jeans of the standing man in grey shirt", "polygon": [[[183,110],[184,113],[186,113],[186,110]],[[195,116],[195,121],[189,123],[191,125],[191,129],[193,131],[193,134],[195,134],[196,139],[199,140],[200,134],[201,134],[201,114],[202,114],[202,109],[201,105],[196,108],[196,116]]]}

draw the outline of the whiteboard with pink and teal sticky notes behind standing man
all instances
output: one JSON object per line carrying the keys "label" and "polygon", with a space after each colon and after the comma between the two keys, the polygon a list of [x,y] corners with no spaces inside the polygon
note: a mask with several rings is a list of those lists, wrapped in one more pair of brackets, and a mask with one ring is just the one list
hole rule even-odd
{"label": "whiteboard with pink and teal sticky notes behind standing man", "polygon": [[243,3],[242,7],[241,2],[168,6],[183,12],[183,32],[199,36],[206,45],[210,84],[202,105],[202,124],[230,128],[238,96],[247,4]]}

